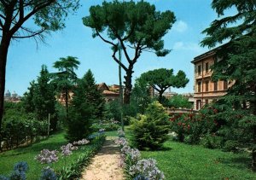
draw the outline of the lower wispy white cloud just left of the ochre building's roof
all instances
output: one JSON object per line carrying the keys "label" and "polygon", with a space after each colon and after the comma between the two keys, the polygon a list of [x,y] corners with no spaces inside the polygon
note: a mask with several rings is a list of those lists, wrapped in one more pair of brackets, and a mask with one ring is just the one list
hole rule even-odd
{"label": "lower wispy white cloud just left of the ochre building's roof", "polygon": [[182,41],[176,42],[173,45],[172,49],[173,50],[191,50],[191,51],[194,51],[196,53],[202,53],[202,52],[206,51],[206,49],[201,48],[199,44],[183,43]]}

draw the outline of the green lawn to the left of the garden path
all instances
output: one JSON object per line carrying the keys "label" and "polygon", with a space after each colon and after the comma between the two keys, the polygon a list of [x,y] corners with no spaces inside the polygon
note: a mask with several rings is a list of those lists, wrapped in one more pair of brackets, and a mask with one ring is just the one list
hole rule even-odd
{"label": "green lawn to the left of the garden path", "polygon": [[[54,136],[50,136],[47,140],[32,144],[30,147],[17,148],[15,150],[3,152],[0,154],[0,174],[9,175],[9,172],[13,170],[13,166],[16,162],[26,161],[29,165],[29,171],[26,174],[27,179],[38,179],[37,176],[40,176],[41,169],[47,165],[40,165],[36,160],[34,160],[34,157],[44,148],[61,151],[61,146],[65,144],[67,144],[67,140],[64,138],[64,133],[59,133]],[[85,147],[86,146],[89,145],[85,145]],[[73,154],[68,156],[66,159],[67,164],[78,159],[79,155],[83,151],[84,150],[81,148],[77,151],[73,151]],[[59,161],[51,165],[51,167],[55,170],[60,170],[64,165],[65,160],[60,158]]]}

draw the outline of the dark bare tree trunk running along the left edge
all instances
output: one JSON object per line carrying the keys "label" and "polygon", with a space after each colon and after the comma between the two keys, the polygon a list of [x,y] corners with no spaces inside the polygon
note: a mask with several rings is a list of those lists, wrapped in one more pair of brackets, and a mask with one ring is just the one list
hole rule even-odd
{"label": "dark bare tree trunk running along the left edge", "polygon": [[[4,101],[4,90],[5,90],[5,71],[7,54],[10,44],[10,38],[6,33],[3,33],[3,37],[0,44],[0,144],[2,142],[2,119],[3,119],[3,101]],[[1,151],[0,145],[0,151]]]}

